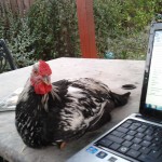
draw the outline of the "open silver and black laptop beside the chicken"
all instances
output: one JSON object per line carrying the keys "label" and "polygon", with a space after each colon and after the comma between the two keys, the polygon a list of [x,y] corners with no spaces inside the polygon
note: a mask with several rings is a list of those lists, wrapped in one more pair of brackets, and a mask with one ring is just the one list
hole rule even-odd
{"label": "open silver and black laptop beside the chicken", "polygon": [[151,24],[139,112],[67,162],[162,162],[162,23]]}

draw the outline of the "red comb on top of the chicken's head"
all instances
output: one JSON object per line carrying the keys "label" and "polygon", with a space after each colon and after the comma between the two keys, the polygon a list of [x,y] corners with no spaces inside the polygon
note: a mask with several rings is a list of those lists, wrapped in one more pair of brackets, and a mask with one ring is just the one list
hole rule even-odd
{"label": "red comb on top of the chicken's head", "polygon": [[52,70],[44,60],[39,60],[39,73],[41,76],[50,76],[52,73]]}

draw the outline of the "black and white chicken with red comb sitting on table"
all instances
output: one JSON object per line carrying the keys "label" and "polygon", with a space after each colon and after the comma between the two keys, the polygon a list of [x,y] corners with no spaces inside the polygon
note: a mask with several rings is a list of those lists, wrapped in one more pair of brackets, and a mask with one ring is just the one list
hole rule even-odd
{"label": "black and white chicken with red comb sitting on table", "polygon": [[23,141],[32,148],[66,143],[94,131],[110,120],[110,111],[127,103],[130,92],[119,95],[92,78],[51,83],[50,66],[32,67],[16,110],[15,125]]}

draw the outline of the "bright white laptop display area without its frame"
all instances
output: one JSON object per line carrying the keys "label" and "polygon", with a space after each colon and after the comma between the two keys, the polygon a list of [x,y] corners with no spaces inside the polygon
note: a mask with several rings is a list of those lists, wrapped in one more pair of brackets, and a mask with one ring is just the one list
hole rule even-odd
{"label": "bright white laptop display area without its frame", "polygon": [[162,30],[154,31],[145,107],[162,111]]}

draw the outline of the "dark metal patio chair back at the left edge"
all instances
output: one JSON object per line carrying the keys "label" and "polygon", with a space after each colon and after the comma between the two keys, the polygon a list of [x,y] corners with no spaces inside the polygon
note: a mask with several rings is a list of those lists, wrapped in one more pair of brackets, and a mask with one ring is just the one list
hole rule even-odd
{"label": "dark metal patio chair back at the left edge", "polygon": [[0,39],[0,73],[3,71],[15,70],[12,54],[3,39]]}

